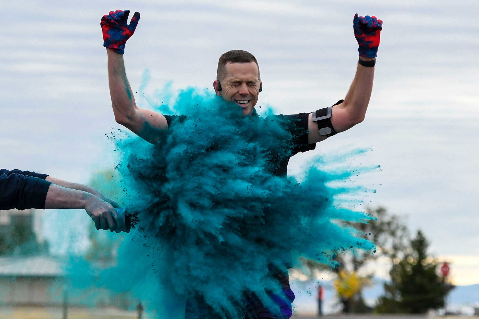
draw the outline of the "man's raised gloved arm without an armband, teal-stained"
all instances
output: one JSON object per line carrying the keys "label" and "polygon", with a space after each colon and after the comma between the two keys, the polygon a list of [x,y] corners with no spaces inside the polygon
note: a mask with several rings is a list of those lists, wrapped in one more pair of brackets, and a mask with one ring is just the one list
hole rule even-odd
{"label": "man's raised gloved arm without an armband, teal-stained", "polygon": [[110,11],[102,18],[103,46],[108,56],[108,82],[115,120],[150,143],[160,140],[161,130],[168,128],[166,118],[156,112],[141,109],[126,78],[123,54],[125,43],[133,35],[140,14],[135,12],[127,24],[129,11]]}

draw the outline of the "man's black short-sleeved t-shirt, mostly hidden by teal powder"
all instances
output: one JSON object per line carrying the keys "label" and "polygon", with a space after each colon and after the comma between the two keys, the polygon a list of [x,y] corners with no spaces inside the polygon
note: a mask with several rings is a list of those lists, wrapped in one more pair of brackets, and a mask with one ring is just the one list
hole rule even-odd
{"label": "man's black short-sleeved t-shirt, mostly hidden by teal powder", "polygon": [[[163,115],[166,118],[168,127],[171,126],[171,123],[175,120],[181,121],[185,118],[185,115]],[[256,112],[253,111],[251,116],[258,116]],[[299,153],[306,152],[311,149],[316,148],[316,143],[308,144],[308,117],[309,113],[299,113],[299,114],[290,114],[290,115],[270,115],[265,118],[265,120],[277,120],[283,125],[285,131],[289,132],[292,136],[290,152],[288,156],[277,155],[269,157],[270,161],[274,161],[271,165],[271,171],[274,175],[285,176],[287,174],[288,162],[289,159]]]}

